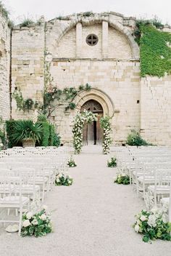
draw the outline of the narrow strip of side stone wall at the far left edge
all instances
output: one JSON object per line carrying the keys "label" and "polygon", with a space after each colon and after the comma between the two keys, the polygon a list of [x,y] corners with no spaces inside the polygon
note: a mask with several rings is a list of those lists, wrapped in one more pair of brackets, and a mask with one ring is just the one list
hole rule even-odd
{"label": "narrow strip of side stone wall at the far left edge", "polygon": [[10,118],[9,95],[10,29],[8,21],[0,12],[0,118]]}

